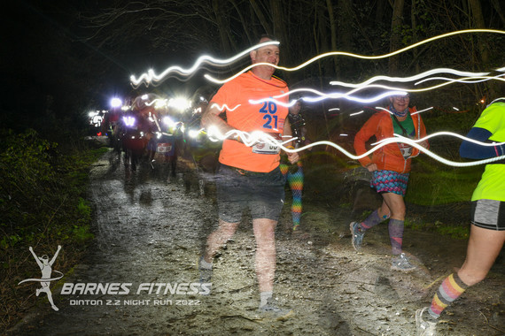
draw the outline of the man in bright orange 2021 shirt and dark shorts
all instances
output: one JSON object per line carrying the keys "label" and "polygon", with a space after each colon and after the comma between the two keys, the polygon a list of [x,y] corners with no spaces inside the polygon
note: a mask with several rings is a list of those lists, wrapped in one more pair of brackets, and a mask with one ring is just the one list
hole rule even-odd
{"label": "man in bright orange 2021 shirt and dark shorts", "polygon": [[[260,43],[274,42],[268,36]],[[253,65],[279,63],[278,43],[262,45],[251,51]],[[281,139],[291,136],[287,118],[288,108],[276,101],[254,103],[288,92],[283,80],[273,77],[276,68],[258,65],[236,79],[225,83],[211,99],[202,116],[202,126],[217,127],[221,134],[229,131],[252,133],[260,131]],[[287,103],[285,95],[279,98]],[[220,117],[226,113],[226,121]],[[242,210],[249,209],[253,217],[256,238],[255,269],[260,286],[260,312],[276,317],[289,314],[273,302],[276,271],[275,229],[284,204],[284,177],[279,169],[279,146],[256,142],[246,146],[240,137],[223,141],[219,157],[220,169],[216,180],[219,227],[207,238],[206,251],[198,262],[200,281],[209,282],[212,262],[217,251],[237,231]],[[287,153],[291,163],[299,159],[297,153]]]}

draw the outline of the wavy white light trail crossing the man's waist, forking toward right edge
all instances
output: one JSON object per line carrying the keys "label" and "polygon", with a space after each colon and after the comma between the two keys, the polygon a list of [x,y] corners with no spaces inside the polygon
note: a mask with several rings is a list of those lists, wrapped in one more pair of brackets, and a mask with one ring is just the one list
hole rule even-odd
{"label": "wavy white light trail crossing the man's waist, forking toward right edge", "polygon": [[375,144],[373,144],[374,147],[372,149],[369,149],[367,152],[361,154],[360,156],[356,156],[354,154],[349,153],[346,149],[343,149],[342,147],[338,146],[338,144],[331,142],[331,141],[316,141],[316,142],[310,143],[306,146],[300,147],[299,149],[289,149],[289,148],[284,147],[284,144],[291,142],[295,138],[291,138],[290,140],[280,142],[280,141],[277,141],[271,135],[260,132],[260,131],[255,131],[255,132],[249,134],[249,133],[239,131],[239,130],[232,130],[232,131],[227,132],[226,134],[221,134],[219,132],[218,128],[215,126],[209,127],[207,134],[208,134],[209,139],[211,141],[222,141],[222,140],[225,140],[228,138],[234,138],[238,135],[238,136],[240,136],[240,139],[245,143],[246,146],[250,147],[250,146],[253,146],[253,144],[255,144],[257,142],[262,142],[262,143],[271,144],[274,146],[280,146],[281,149],[283,149],[285,152],[288,152],[288,153],[295,153],[295,152],[299,152],[299,151],[309,149],[309,148],[312,148],[315,146],[326,145],[326,146],[331,146],[334,149],[338,149],[338,151],[340,151],[342,154],[346,155],[346,157],[349,157],[353,160],[359,160],[363,157],[368,157],[370,154],[374,153],[377,149],[381,149],[382,147],[384,147],[390,143],[407,143],[408,145],[410,145],[416,149],[419,149],[420,152],[426,154],[427,156],[439,161],[440,163],[450,165],[453,167],[470,167],[470,166],[479,165],[479,164],[489,164],[489,163],[493,163],[494,161],[505,159],[505,156],[501,156],[501,157],[491,157],[491,158],[478,160],[478,161],[471,161],[471,162],[456,162],[456,161],[447,160],[444,157],[440,157],[439,155],[431,152],[431,150],[425,149],[423,146],[421,146],[417,143],[417,142],[422,142],[422,141],[431,139],[436,136],[448,135],[448,136],[455,136],[455,137],[460,138],[464,141],[470,141],[473,143],[477,143],[478,145],[482,145],[482,146],[496,146],[496,145],[505,144],[505,142],[499,142],[499,143],[480,142],[480,141],[476,141],[474,139],[470,139],[470,138],[467,138],[467,137],[462,136],[460,134],[455,134],[452,132],[438,132],[435,134],[430,134],[428,136],[425,136],[424,138],[417,139],[417,140],[408,139],[408,138],[400,136],[398,134],[394,134],[395,137],[387,138],[382,141],[377,141]]}

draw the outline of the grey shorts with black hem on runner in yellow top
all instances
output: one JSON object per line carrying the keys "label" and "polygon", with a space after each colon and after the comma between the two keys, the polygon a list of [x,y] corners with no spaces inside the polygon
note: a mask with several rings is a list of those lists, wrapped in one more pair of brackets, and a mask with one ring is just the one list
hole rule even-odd
{"label": "grey shorts with black hem on runner in yellow top", "polygon": [[471,202],[471,224],[488,230],[505,230],[505,202],[495,200]]}

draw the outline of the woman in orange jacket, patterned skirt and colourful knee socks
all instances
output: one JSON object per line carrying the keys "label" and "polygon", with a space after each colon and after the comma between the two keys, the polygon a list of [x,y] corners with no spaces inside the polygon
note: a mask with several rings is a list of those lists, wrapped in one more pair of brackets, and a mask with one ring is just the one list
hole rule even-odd
{"label": "woman in orange jacket, patterned skirt and colourful knee socks", "polygon": [[[357,155],[367,151],[365,142],[373,135],[377,141],[392,138],[393,134],[400,134],[410,139],[420,139],[426,135],[423,120],[416,113],[416,108],[409,108],[409,95],[395,95],[389,98],[388,111],[374,114],[361,127],[354,138],[354,149]],[[428,148],[428,141],[420,143]],[[389,237],[392,245],[392,269],[398,271],[412,271],[416,268],[408,261],[408,257],[401,251],[403,242],[403,224],[405,220],[405,202],[403,197],[407,190],[408,173],[412,157],[416,157],[419,150],[406,143],[390,143],[377,149],[372,157],[363,157],[360,163],[372,172],[370,186],[377,189],[383,196],[381,207],[366,218],[363,222],[352,222],[352,243],[356,250],[361,248],[365,232],[389,220]]]}

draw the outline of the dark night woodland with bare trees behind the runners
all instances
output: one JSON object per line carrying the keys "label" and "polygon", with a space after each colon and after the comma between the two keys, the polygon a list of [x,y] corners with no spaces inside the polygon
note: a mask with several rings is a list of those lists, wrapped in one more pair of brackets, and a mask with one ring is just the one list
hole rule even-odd
{"label": "dark night woodland with bare trees behind the runners", "polygon": [[[503,29],[502,5],[499,0],[19,1],[2,20],[0,73],[7,99],[0,102],[1,121],[18,129],[40,117],[43,123],[76,125],[89,109],[107,108],[112,95],[131,94],[131,74],[189,67],[204,54],[231,57],[260,34],[275,35],[282,42],[280,65],[293,67],[328,51],[377,56],[438,34]],[[291,88],[330,92],[335,89],[330,80],[357,83],[439,67],[493,72],[503,66],[503,50],[504,34],[457,34],[395,57],[324,57],[277,74]],[[247,62],[245,57],[241,65]],[[238,69],[221,69],[221,77]],[[168,79],[155,89],[191,95],[206,84],[203,73]],[[425,96],[435,105],[475,103],[500,95],[501,83],[449,85]]]}

